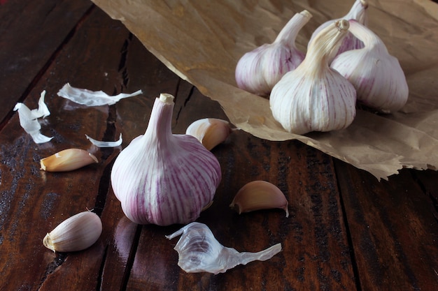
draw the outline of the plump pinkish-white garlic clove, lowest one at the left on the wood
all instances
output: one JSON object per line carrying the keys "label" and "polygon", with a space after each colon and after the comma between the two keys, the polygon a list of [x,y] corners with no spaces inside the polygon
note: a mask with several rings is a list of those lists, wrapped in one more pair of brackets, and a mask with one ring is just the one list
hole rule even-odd
{"label": "plump pinkish-white garlic clove, lowest one at the left on the wood", "polygon": [[91,211],[80,212],[62,221],[45,235],[43,245],[54,252],[82,251],[94,244],[102,232],[99,216]]}

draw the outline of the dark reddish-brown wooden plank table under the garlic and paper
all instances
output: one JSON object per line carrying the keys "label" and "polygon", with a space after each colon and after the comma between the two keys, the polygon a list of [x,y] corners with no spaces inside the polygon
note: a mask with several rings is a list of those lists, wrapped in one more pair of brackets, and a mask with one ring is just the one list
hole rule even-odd
{"label": "dark reddish-brown wooden plank table under the garlic and paper", "polygon": [[[222,182],[198,221],[238,251],[281,243],[283,251],[225,274],[178,267],[181,225],[136,225],[110,184],[121,148],[146,129],[153,100],[176,96],[174,133],[203,117],[226,119],[160,63],[120,22],[89,0],[0,1],[0,290],[438,290],[438,172],[404,169],[388,181],[297,141],[268,142],[243,131],[213,149]],[[108,94],[144,94],[85,107],[57,96],[66,83]],[[53,140],[35,144],[20,127],[17,102],[51,111]],[[117,140],[97,149],[85,134]],[[99,163],[64,173],[39,160],[76,147]],[[284,211],[236,214],[228,205],[243,184],[267,180],[289,201]],[[92,247],[53,253],[41,240],[69,216],[94,209],[104,230]]]}

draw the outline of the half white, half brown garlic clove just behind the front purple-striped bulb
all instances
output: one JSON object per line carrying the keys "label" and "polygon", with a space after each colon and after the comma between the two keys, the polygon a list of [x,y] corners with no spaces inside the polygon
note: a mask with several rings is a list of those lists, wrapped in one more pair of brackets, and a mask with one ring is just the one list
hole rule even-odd
{"label": "half white, half brown garlic clove just behind the front purple-striped bulb", "polygon": [[232,133],[232,128],[229,122],[216,118],[198,119],[185,130],[186,135],[196,137],[209,151],[225,142],[230,133]]}

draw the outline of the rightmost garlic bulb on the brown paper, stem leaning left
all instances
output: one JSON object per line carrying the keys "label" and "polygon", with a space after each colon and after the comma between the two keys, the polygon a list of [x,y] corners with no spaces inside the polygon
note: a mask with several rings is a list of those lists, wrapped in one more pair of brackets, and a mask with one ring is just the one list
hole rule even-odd
{"label": "rightmost garlic bulb on the brown paper, stem leaning left", "polygon": [[402,67],[371,29],[354,20],[349,31],[365,47],[339,54],[331,67],[353,84],[358,101],[382,112],[395,112],[406,104],[409,88]]}

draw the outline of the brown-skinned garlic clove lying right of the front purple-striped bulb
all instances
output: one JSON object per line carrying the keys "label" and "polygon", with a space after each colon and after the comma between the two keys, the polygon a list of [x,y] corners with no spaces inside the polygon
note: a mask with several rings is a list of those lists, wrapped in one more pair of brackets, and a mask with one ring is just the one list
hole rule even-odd
{"label": "brown-skinned garlic clove lying right of the front purple-striped bulb", "polygon": [[234,196],[229,207],[239,214],[260,209],[280,208],[289,217],[288,200],[281,190],[267,181],[251,181]]}

